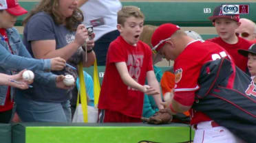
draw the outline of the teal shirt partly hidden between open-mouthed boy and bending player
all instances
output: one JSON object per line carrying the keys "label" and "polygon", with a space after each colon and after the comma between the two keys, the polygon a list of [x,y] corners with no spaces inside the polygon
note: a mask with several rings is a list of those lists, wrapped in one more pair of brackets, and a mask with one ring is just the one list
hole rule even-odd
{"label": "teal shirt partly hidden between open-mouthed boy and bending player", "polygon": [[[158,82],[160,82],[162,78],[162,70],[156,66],[153,66],[153,71],[156,75],[156,79],[158,80]],[[158,112],[158,106],[156,105],[153,96],[148,96],[147,94],[145,94],[142,116],[149,118],[150,116],[153,116],[153,114],[155,114],[156,112]]]}

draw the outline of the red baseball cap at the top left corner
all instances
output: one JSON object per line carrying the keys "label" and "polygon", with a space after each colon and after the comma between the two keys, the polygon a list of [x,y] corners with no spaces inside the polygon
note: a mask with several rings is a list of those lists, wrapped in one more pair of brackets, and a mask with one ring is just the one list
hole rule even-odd
{"label": "red baseball cap at the top left corner", "polygon": [[19,5],[18,0],[1,0],[0,10],[6,10],[9,14],[14,16],[21,16],[28,13],[27,10]]}

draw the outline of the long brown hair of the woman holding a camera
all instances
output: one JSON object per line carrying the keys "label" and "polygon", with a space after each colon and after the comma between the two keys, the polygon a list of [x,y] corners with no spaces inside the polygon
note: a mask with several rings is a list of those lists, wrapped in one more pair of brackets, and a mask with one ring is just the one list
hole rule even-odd
{"label": "long brown hair of the woman holding a camera", "polygon": [[41,0],[41,2],[28,13],[28,16],[25,17],[23,25],[25,26],[34,14],[46,12],[52,16],[57,25],[65,23],[65,27],[67,27],[67,29],[70,31],[76,31],[77,25],[83,22],[83,12],[76,8],[72,16],[63,18],[60,12],[58,12],[58,1],[59,0]]}

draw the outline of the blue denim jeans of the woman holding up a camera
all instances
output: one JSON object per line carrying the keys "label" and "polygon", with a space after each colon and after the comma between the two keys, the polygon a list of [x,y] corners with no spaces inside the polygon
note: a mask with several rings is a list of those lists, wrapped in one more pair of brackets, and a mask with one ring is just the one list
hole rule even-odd
{"label": "blue denim jeans of the woman holding up a camera", "polygon": [[17,113],[22,122],[71,122],[70,101],[50,103],[33,101],[17,94]]}

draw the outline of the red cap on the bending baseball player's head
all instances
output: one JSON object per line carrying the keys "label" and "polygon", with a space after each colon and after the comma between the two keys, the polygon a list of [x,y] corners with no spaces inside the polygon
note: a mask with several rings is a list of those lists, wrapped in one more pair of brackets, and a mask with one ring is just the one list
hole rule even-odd
{"label": "red cap on the bending baseball player's head", "polygon": [[165,42],[171,39],[171,36],[179,29],[180,27],[178,25],[173,25],[172,23],[160,25],[151,38],[152,50],[159,51],[164,46]]}

